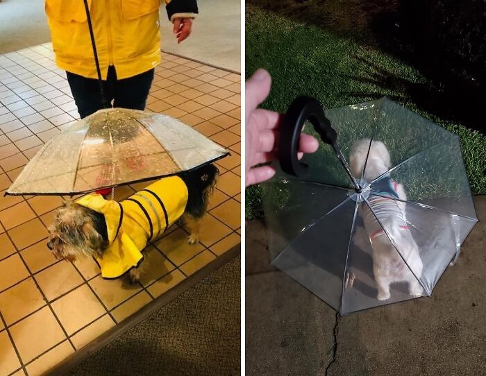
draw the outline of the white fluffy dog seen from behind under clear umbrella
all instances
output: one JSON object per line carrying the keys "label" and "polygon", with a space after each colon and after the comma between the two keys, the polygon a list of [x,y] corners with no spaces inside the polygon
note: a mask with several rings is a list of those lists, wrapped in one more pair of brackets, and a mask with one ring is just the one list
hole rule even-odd
{"label": "white fluffy dog seen from behind under clear umbrella", "polygon": [[[374,183],[372,191],[384,197],[371,195],[367,198],[373,211],[366,203],[360,205],[360,215],[373,249],[373,272],[378,286],[377,298],[378,300],[389,299],[389,286],[394,282],[408,282],[410,295],[421,296],[424,289],[417,278],[421,277],[423,264],[419,247],[405,221],[405,203],[390,199],[399,198],[405,201],[407,199],[405,190],[403,185],[386,174],[390,167],[390,157],[383,142],[373,141],[371,148],[369,143],[369,139],[355,142],[351,148],[349,162],[354,176],[360,178],[369,149],[362,179],[371,182],[384,174],[383,178]],[[392,239],[393,244],[390,243],[389,238]]]}

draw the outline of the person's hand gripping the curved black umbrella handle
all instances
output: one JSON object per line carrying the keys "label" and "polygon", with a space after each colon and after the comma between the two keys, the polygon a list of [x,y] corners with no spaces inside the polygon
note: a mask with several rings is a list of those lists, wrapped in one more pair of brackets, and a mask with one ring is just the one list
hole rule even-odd
{"label": "person's hand gripping the curved black umbrella handle", "polygon": [[[255,164],[276,159],[276,139],[282,115],[257,108],[270,93],[271,78],[265,69],[258,69],[246,81],[245,94],[245,184],[246,187],[268,180],[275,174],[271,166],[255,167]],[[299,156],[317,151],[319,142],[310,135],[301,135]]]}

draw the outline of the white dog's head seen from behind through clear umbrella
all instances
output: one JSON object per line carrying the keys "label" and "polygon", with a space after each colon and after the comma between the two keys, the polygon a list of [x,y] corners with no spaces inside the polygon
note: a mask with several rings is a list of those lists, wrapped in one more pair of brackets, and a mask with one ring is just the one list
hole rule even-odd
{"label": "white dog's head seen from behind through clear umbrella", "polygon": [[351,171],[355,178],[359,179],[369,149],[366,170],[362,177],[367,182],[378,178],[382,173],[388,171],[390,166],[389,153],[385,144],[380,141],[373,141],[370,147],[369,141],[369,139],[359,139],[356,141],[351,147],[351,155],[349,156]]}

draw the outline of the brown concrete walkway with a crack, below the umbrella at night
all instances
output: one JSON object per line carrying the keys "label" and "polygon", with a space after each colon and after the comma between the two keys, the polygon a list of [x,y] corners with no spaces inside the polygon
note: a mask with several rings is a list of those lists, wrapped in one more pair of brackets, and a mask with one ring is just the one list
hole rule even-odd
{"label": "brown concrete walkway with a crack, below the umbrella at night", "polygon": [[247,375],[486,375],[486,196],[480,222],[432,298],[349,316],[269,266],[262,221],[246,223]]}

